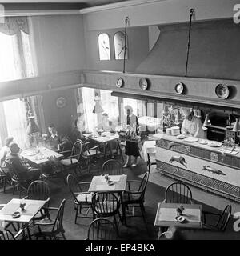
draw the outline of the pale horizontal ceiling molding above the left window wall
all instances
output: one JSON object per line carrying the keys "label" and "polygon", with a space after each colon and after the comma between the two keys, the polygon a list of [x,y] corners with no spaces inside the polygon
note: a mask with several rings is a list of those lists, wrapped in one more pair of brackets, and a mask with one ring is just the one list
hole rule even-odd
{"label": "pale horizontal ceiling molding above the left window wall", "polygon": [[0,17],[16,16],[45,16],[45,15],[76,15],[80,14],[79,10],[6,10],[0,12]]}

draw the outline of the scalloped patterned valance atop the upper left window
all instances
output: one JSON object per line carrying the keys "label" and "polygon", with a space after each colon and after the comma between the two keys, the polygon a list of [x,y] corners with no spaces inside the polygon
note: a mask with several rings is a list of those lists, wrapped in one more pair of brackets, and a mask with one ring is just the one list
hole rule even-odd
{"label": "scalloped patterned valance atop the upper left window", "polygon": [[29,34],[29,26],[26,17],[6,17],[4,23],[0,23],[0,32],[14,35],[20,33]]}

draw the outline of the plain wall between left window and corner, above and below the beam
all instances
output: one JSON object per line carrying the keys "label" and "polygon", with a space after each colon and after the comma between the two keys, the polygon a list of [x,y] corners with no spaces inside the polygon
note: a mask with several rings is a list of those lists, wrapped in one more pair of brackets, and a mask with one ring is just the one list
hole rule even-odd
{"label": "plain wall between left window and corner, above and below the beam", "polygon": [[[82,15],[34,16],[30,18],[38,75],[84,69],[86,63]],[[57,108],[64,95],[66,106]],[[77,116],[74,90],[42,94],[46,125],[54,123],[61,132],[70,131]]]}

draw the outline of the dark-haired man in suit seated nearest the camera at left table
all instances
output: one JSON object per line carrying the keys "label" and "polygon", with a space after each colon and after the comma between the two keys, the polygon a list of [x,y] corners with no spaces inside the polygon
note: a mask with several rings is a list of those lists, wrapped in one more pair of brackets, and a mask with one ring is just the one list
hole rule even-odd
{"label": "dark-haired man in suit seated nearest the camera at left table", "polygon": [[10,143],[10,154],[6,157],[6,162],[13,166],[14,171],[18,174],[19,178],[26,181],[33,182],[40,177],[40,170],[26,165],[22,158],[19,157],[20,148],[17,143]]}

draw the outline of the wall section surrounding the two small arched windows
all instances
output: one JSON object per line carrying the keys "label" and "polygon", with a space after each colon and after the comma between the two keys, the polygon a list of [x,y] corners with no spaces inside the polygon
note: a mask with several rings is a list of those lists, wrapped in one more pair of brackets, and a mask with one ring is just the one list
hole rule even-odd
{"label": "wall section surrounding the two small arched windows", "polygon": [[[121,29],[124,31],[124,29]],[[114,34],[119,30],[86,31],[86,68],[88,70],[123,70],[123,60],[114,59]],[[98,54],[98,34],[106,32],[110,36],[110,61],[100,61]],[[126,72],[133,72],[149,52],[148,27],[127,29],[129,58]]]}

